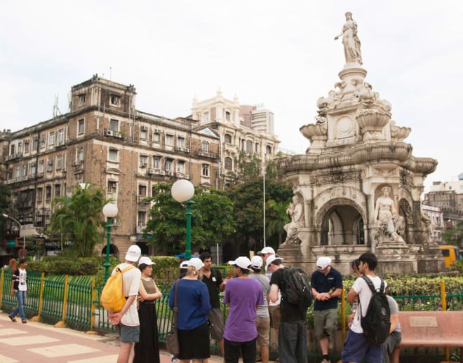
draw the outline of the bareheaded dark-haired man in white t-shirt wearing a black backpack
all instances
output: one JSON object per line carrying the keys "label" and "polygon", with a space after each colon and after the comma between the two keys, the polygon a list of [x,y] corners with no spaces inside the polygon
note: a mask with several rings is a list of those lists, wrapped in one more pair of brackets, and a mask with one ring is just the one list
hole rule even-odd
{"label": "bareheaded dark-haired man in white t-shirt wearing a black backpack", "polygon": [[[375,275],[375,268],[377,266],[376,256],[371,252],[366,252],[358,257],[358,260],[360,261],[358,270],[373,282],[375,289],[380,289],[381,278]],[[385,287],[386,282],[384,284]],[[382,363],[382,346],[370,344],[365,334],[363,334],[361,326],[360,314],[362,316],[366,315],[371,296],[370,287],[368,287],[367,282],[363,278],[355,280],[354,285],[352,285],[347,294],[347,301],[349,303],[358,301],[363,308],[357,308],[356,310],[346,343],[342,349],[342,362],[360,363],[366,357],[368,363]]]}

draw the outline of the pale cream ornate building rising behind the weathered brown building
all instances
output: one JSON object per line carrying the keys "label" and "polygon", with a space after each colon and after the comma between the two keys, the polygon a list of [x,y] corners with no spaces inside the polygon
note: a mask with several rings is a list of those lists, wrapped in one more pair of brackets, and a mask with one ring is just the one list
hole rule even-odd
{"label": "pale cream ornate building rising behind the weathered brown building", "polygon": [[274,114],[268,109],[240,106],[217,92],[208,100],[194,100],[192,118],[200,127],[208,127],[220,137],[219,187],[227,188],[236,172],[239,153],[261,160],[274,158],[279,139],[274,135]]}

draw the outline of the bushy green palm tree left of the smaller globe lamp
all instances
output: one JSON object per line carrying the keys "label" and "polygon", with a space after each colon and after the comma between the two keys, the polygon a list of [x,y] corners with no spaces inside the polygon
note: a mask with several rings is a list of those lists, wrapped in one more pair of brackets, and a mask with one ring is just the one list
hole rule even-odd
{"label": "bushy green palm tree left of the smaller globe lamp", "polygon": [[72,196],[53,199],[55,208],[48,233],[63,240],[74,240],[76,254],[79,257],[92,256],[95,245],[102,242],[103,206],[107,200],[100,189],[89,184],[82,189],[77,185]]}

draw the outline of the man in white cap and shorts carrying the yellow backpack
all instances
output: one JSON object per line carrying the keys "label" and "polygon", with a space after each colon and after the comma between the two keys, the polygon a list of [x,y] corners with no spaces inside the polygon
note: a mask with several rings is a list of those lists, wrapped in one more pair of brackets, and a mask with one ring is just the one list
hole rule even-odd
{"label": "man in white cap and shorts carrying the yellow backpack", "polygon": [[[128,266],[134,266],[140,259],[142,250],[137,245],[128,247],[126,259],[119,265],[123,270]],[[112,273],[115,272],[115,269]],[[116,326],[121,338],[121,348],[117,363],[128,363],[133,361],[133,347],[138,343],[140,336],[140,321],[137,311],[137,294],[140,287],[142,273],[138,268],[130,268],[122,275],[123,295],[127,300],[121,311],[109,315],[109,321]]]}

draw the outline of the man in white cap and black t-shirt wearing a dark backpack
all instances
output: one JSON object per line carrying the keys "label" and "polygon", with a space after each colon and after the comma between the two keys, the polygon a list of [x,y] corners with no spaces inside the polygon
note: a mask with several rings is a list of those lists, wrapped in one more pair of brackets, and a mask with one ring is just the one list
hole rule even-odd
{"label": "man in white cap and black t-shirt wearing a dark backpack", "polygon": [[307,309],[285,300],[286,283],[283,275],[285,266],[282,258],[273,254],[267,258],[267,270],[271,272],[270,301],[278,299],[281,290],[281,320],[278,336],[280,362],[307,362]]}

